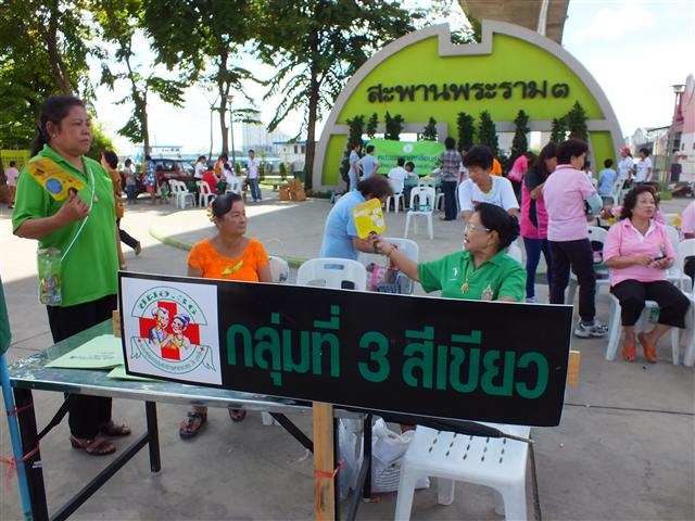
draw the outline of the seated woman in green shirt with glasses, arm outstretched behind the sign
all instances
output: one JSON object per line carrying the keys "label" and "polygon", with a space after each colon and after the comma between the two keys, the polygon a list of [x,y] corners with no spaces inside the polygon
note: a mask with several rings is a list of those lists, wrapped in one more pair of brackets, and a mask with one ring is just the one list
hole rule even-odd
{"label": "seated woman in green shirt with glasses, arm outstretched behind the sign", "polygon": [[416,263],[379,239],[375,250],[386,255],[426,292],[442,291],[448,298],[521,302],[526,270],[505,249],[519,236],[519,223],[500,206],[479,203],[468,220],[464,251],[429,263]]}

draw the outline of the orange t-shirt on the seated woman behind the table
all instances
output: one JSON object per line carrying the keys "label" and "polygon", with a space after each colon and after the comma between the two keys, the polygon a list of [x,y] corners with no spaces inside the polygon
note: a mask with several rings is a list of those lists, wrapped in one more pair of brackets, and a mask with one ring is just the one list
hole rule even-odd
{"label": "orange t-shirt on the seated woman behind the table", "polygon": [[249,239],[243,253],[238,257],[225,257],[213,246],[210,239],[200,241],[188,255],[188,265],[203,270],[204,279],[258,281],[258,268],[267,266],[268,254],[256,239]]}

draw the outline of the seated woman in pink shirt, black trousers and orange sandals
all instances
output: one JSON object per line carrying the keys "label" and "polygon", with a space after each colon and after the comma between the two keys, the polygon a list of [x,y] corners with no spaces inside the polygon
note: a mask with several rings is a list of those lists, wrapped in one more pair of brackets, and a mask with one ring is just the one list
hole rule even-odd
{"label": "seated woman in pink shirt, black trousers and orange sandals", "polygon": [[604,263],[610,269],[610,292],[620,301],[622,358],[636,359],[634,325],[644,301],[659,304],[654,329],[637,335],[647,361],[656,364],[656,344],[671,327],[685,327],[690,301],[667,281],[666,270],[673,266],[675,253],[664,225],[655,219],[656,193],[648,185],[637,185],[626,195],[621,220],[608,230],[604,242]]}

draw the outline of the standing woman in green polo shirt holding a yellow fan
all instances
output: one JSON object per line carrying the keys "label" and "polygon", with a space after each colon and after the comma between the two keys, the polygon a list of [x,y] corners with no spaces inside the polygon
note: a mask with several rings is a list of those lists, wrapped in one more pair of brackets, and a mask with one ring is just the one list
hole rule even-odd
{"label": "standing woman in green polo shirt holding a yellow fan", "polygon": [[[34,157],[20,176],[12,228],[17,237],[38,240],[39,247],[61,251],[62,302],[47,306],[53,342],[60,342],[111,319],[117,307],[119,237],[111,179],[85,156],[92,136],[83,101],[73,96],[48,98],[38,130]],[[31,174],[35,161],[60,169],[81,188],[54,198],[55,187]],[[128,427],[112,421],[111,398],[68,395],[67,410],[71,443],[87,454],[112,454],[116,447],[104,436],[130,434]]]}

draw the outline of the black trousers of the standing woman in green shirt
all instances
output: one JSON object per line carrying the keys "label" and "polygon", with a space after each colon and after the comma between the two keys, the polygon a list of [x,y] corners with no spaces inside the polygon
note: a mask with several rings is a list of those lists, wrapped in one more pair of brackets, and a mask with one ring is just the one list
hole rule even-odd
{"label": "black trousers of the standing woman in green shirt", "polygon": [[[47,306],[53,342],[65,340],[110,319],[116,307],[116,295],[76,306]],[[94,437],[99,433],[99,425],[111,420],[111,398],[72,394],[67,399],[70,432],[75,437]]]}

